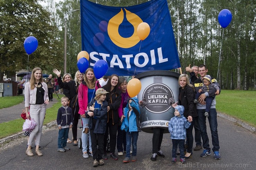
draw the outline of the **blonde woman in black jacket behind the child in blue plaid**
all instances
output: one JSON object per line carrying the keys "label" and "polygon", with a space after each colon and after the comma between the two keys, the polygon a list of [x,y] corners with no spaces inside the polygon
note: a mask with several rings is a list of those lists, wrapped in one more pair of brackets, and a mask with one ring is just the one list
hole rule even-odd
{"label": "blonde woman in black jacket behind the child in blue plaid", "polygon": [[[192,157],[192,147],[193,147],[193,126],[194,122],[197,121],[197,111],[196,111],[196,105],[194,103],[195,99],[195,89],[194,86],[192,86],[189,83],[189,76],[188,74],[181,74],[178,81],[180,85],[180,93],[179,93],[179,104],[184,106],[184,117],[188,118],[189,122],[191,122],[191,126],[186,129],[186,137],[188,141],[188,149],[185,154],[185,158],[191,158]],[[177,104],[173,104],[172,107],[176,107]]]}

